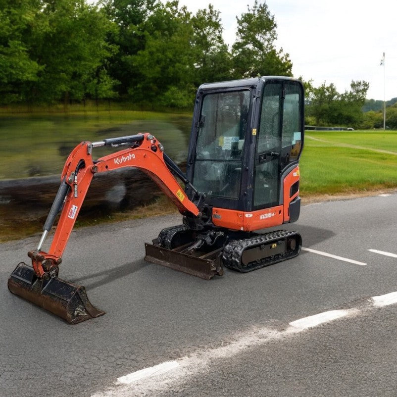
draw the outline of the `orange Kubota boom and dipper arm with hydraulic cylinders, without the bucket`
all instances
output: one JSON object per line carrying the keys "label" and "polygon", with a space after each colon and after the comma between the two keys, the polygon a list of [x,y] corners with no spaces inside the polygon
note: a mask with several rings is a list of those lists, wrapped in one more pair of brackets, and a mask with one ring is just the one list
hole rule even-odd
{"label": "orange Kubota boom and dipper arm with hydraulic cylinders, without the bucket", "polygon": [[[119,145],[128,145],[129,148],[101,157],[96,161],[93,160],[93,148]],[[145,172],[174,202],[182,214],[191,212],[195,216],[199,215],[199,208],[185,195],[183,188],[170,169],[184,178],[185,183],[189,183],[189,181],[172,160],[163,153],[161,143],[149,133],[106,139],[94,143],[82,142],[73,149],[66,160],[61,174],[61,185],[43,227],[44,232],[39,246],[35,251],[29,252],[33,269],[38,277],[43,277],[46,272],[50,272],[61,262],[62,253],[66,248],[93,176],[97,173],[125,167],[136,167]],[[199,198],[198,192],[197,195]],[[61,214],[50,249],[48,252],[44,252],[41,250],[42,245],[59,211]]]}

